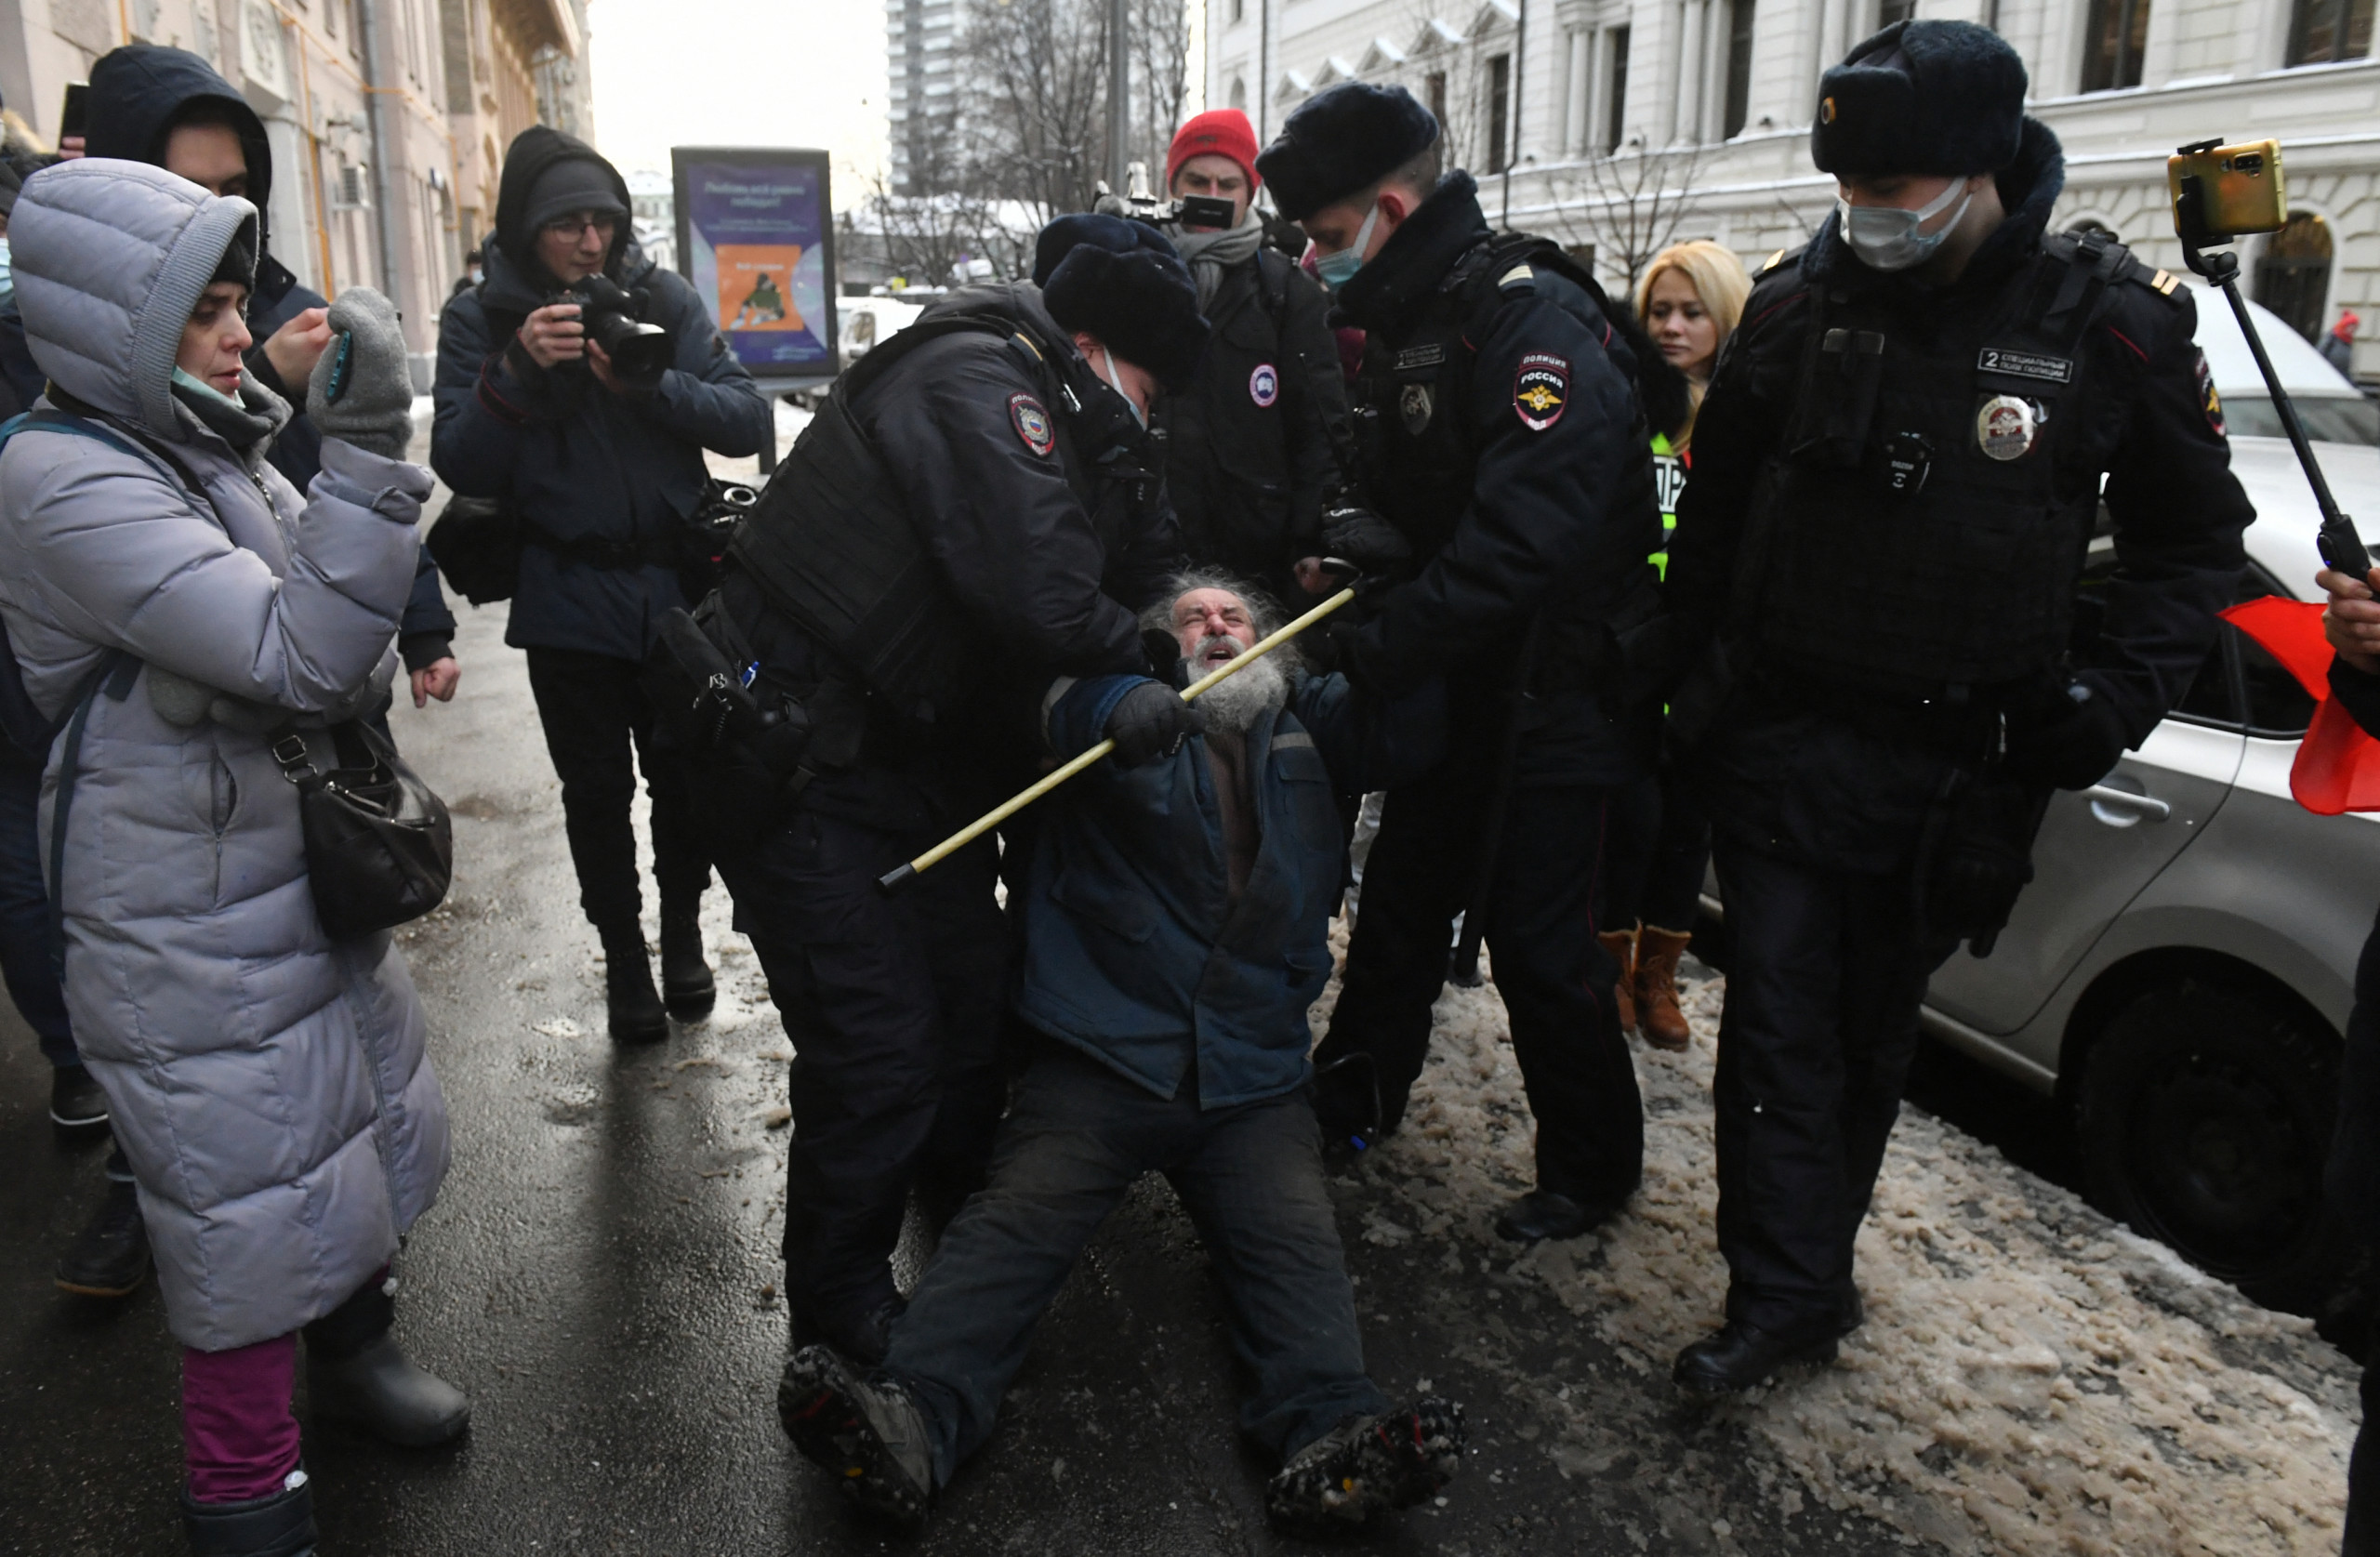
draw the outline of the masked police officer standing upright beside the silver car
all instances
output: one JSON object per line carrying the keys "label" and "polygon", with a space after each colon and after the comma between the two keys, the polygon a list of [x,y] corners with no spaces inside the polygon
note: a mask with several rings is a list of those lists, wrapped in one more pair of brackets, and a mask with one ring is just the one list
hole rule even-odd
{"label": "masked police officer standing upright beside the silver car", "polygon": [[[1726,1326],[1695,1393],[1830,1359],[1925,981],[1987,950],[2052,788],[2190,686],[2251,519],[2194,309],[2104,236],[2044,236],[2056,138],[1968,21],[1899,21],[1818,86],[1840,198],[1768,262],[1695,421],[1671,702],[1716,836]],[[2075,583],[2106,479],[2116,579]]]}

